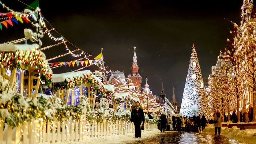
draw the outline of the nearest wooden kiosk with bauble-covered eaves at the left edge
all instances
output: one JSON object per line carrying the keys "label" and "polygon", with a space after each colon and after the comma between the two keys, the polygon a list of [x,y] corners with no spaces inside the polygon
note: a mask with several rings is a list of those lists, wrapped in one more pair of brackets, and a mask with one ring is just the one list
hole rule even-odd
{"label": "nearest wooden kiosk with bauble-covered eaves at the left edge", "polygon": [[0,44],[0,75],[16,94],[36,97],[40,83],[48,84],[51,73],[39,45]]}

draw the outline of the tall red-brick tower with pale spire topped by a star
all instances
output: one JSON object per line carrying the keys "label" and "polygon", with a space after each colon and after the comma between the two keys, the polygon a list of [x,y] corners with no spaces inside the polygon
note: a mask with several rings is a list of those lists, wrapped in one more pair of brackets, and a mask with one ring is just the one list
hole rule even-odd
{"label": "tall red-brick tower with pale spire topped by a star", "polygon": [[137,62],[137,56],[136,56],[136,46],[134,46],[134,55],[133,55],[133,61],[132,61],[132,75],[131,73],[129,74],[128,78],[132,80],[132,83],[134,85],[139,86],[139,91],[141,91],[141,83],[142,83],[142,77],[139,74],[139,66]]}

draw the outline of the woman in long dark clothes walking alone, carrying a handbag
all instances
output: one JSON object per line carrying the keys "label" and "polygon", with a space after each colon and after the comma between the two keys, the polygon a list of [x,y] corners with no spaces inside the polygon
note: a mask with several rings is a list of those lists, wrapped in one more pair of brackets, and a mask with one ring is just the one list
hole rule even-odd
{"label": "woman in long dark clothes walking alone, carrying a handbag", "polygon": [[135,137],[140,138],[141,137],[140,125],[142,121],[143,121],[142,125],[144,125],[145,117],[144,117],[143,109],[142,107],[140,107],[140,102],[138,101],[135,103],[135,106],[132,108],[130,121],[133,122],[134,124]]}

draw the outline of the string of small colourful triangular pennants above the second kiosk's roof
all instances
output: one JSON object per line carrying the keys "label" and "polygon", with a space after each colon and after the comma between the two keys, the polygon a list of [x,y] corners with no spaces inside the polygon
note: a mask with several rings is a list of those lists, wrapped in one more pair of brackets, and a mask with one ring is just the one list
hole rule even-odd
{"label": "string of small colourful triangular pennants above the second kiosk's roof", "polygon": [[58,65],[65,65],[65,67],[69,66],[69,67],[75,67],[77,65],[77,67],[79,67],[79,65],[81,65],[83,67],[83,65],[88,66],[89,65],[94,65],[97,64],[97,62],[100,62],[101,59],[98,60],[85,60],[85,61],[69,61],[69,62],[53,62],[53,63],[48,63],[50,65],[50,67],[56,67]]}

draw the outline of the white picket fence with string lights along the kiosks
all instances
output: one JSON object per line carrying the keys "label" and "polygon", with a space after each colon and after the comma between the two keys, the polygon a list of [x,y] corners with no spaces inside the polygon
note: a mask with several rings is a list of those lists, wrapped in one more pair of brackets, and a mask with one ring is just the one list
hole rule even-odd
{"label": "white picket fence with string lights along the kiosks", "polygon": [[[88,137],[111,136],[112,134],[125,135],[134,133],[134,124],[117,121],[115,124],[103,122],[103,124],[89,124],[85,117],[79,121],[69,119],[64,122],[48,122],[34,120],[24,122],[15,128],[0,122],[0,144],[38,144],[57,143],[57,141],[82,141]],[[157,129],[157,125],[144,124],[144,131]]]}

